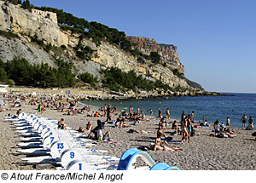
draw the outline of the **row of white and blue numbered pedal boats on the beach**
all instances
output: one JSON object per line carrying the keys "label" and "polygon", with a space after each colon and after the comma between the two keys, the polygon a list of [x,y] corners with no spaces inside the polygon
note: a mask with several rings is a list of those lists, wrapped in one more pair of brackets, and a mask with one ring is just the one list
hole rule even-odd
{"label": "row of white and blue numbered pedal boats on the beach", "polygon": [[[119,157],[107,156],[107,151],[97,150],[84,135],[67,127],[58,129],[57,121],[33,114],[20,113],[19,117],[6,117],[6,122],[15,126],[20,134],[17,150],[26,157],[21,160],[30,164],[50,164],[59,170],[170,170],[178,169],[166,163],[154,163],[147,152],[135,148],[129,149]],[[137,167],[137,157],[147,164]]]}

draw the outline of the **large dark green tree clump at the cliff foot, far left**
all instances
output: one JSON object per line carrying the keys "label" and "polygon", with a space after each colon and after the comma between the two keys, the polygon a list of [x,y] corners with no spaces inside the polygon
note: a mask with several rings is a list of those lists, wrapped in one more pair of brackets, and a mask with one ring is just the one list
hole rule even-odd
{"label": "large dark green tree clump at the cliff foot, far left", "polygon": [[74,75],[71,71],[72,64],[57,60],[57,68],[48,64],[31,65],[24,58],[15,58],[3,63],[0,60],[0,81],[9,83],[9,79],[23,85],[49,87],[73,87]]}

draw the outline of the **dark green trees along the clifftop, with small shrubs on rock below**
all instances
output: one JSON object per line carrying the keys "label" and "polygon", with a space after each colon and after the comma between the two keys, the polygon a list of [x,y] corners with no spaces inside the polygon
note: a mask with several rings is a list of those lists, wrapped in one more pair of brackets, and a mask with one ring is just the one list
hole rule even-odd
{"label": "dark green trees along the clifftop, with small shrubs on rock below", "polygon": [[[102,41],[106,41],[117,46],[119,49],[123,49],[126,52],[130,52],[135,57],[140,58],[139,60],[141,62],[143,62],[142,59],[153,60],[154,64],[159,64],[160,62],[160,55],[156,52],[152,52],[150,55],[148,55],[143,54],[138,49],[132,49],[132,44],[129,40],[127,40],[124,31],[119,31],[115,28],[102,25],[101,23],[98,23],[96,21],[89,22],[87,20],[84,20],[83,18],[75,17],[73,16],[73,14],[66,13],[62,9],[55,9],[49,7],[35,7],[29,2],[29,0],[24,0],[23,3],[21,3],[21,0],[9,0],[9,3],[20,3],[21,8],[23,9],[39,9],[43,11],[54,12],[57,14],[57,20],[61,29],[66,31],[69,30],[73,33],[79,33],[80,39],[90,38],[93,43],[96,43],[96,46],[100,46]],[[34,38],[36,38],[34,42],[42,44],[41,40],[37,40],[38,37]],[[50,46],[47,48],[44,47],[44,49],[46,51],[49,51]],[[80,59],[90,60],[90,50],[87,49],[88,48],[85,48],[85,50],[77,49],[77,55]],[[89,53],[86,53],[88,51]]]}

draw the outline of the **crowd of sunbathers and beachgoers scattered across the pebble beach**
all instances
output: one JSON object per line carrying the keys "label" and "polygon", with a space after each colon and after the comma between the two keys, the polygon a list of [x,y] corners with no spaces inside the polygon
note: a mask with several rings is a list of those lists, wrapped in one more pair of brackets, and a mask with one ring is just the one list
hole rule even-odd
{"label": "crowd of sunbathers and beachgoers scattered across the pebble beach", "polygon": [[[15,98],[13,96],[9,96],[9,97],[11,97],[11,100],[15,101]],[[20,96],[20,100],[21,99],[26,100],[26,97],[22,98]],[[78,103],[78,100],[73,100],[73,101],[67,100],[67,102],[65,102],[63,99],[55,100],[54,98],[50,98],[50,99],[49,98],[46,99],[45,97],[38,98],[38,97],[32,96],[32,95],[27,97],[27,99],[30,99],[28,102],[29,104],[38,105],[38,112],[43,112],[44,109],[47,107],[59,109],[59,110],[61,110],[61,112],[69,112],[69,115],[83,114],[83,112],[85,110],[90,112],[90,106],[84,106],[81,109],[75,108],[76,104]],[[67,110],[67,111],[65,111],[65,110]],[[94,117],[97,117],[98,115],[105,116],[107,118],[104,121],[104,123],[108,123],[109,121],[111,122],[111,120],[113,118],[112,117],[113,112],[117,112],[117,110],[118,110],[118,107],[116,105],[113,107],[111,105],[108,105],[108,106],[105,105],[104,107],[102,107],[103,113],[95,112],[95,114],[93,114],[93,116]],[[116,118],[116,120],[114,121],[114,127],[116,127],[116,128],[125,127],[126,126],[125,119],[129,120],[130,122],[133,122],[133,124],[135,124],[135,125],[142,124],[141,121],[145,117],[144,111],[141,110],[140,107],[137,108],[137,112],[133,112],[133,110],[134,110],[133,107],[130,106],[128,115],[123,116],[123,114],[125,114],[125,112],[122,112],[122,115],[119,115]],[[21,110],[18,110],[17,113],[15,114],[15,116],[18,116],[20,112],[21,112]],[[148,112],[150,113],[150,115],[153,115],[153,110],[150,109],[150,110],[148,110]],[[161,150],[161,151],[181,150],[178,147],[170,146],[166,141],[161,142],[161,140],[166,138],[166,134],[164,134],[162,132],[162,130],[166,129],[166,126],[171,125],[171,123],[166,122],[168,119],[170,119],[170,110],[167,108],[166,109],[166,117],[163,117],[162,112],[159,109],[158,117],[160,117],[160,123],[159,123],[159,128],[158,128],[158,131],[156,134],[154,146],[152,146],[152,149],[154,151],[157,151],[157,150]],[[246,128],[246,123],[248,122],[249,124],[248,124],[247,129],[253,129],[253,123],[254,123],[253,117],[249,117],[247,119],[246,115],[244,114],[243,117],[241,117],[241,122],[242,122],[243,128]],[[184,143],[185,141],[188,141],[188,143],[191,142],[191,134],[193,132],[193,123],[196,123],[195,122],[195,112],[191,112],[191,115],[190,114],[185,115],[185,113],[183,112],[181,121],[180,121],[180,128],[179,128],[179,124],[177,123],[177,121],[174,121],[172,123],[172,129],[175,130],[175,133],[182,135],[182,138],[181,138],[182,143]],[[200,121],[200,122],[198,122],[198,124],[200,126],[209,125],[207,123],[207,120],[204,120],[204,122]],[[234,132],[232,130],[227,128],[228,126],[230,126],[230,117],[227,117],[226,126],[224,126],[224,123],[220,124],[218,120],[216,120],[216,122],[214,122],[213,126],[214,126],[214,132],[215,132],[216,136],[220,135],[221,132],[227,132],[229,134],[234,134]],[[66,129],[66,125],[64,123],[64,118],[61,118],[60,122],[58,123],[58,127],[60,129]],[[89,134],[93,133],[93,134],[95,134],[96,140],[99,140],[99,141],[112,140],[110,138],[110,132],[107,131],[106,133],[103,134],[102,129],[103,129],[103,127],[99,126],[99,125],[95,129],[93,129],[92,123],[88,122],[86,124],[85,128],[83,128],[83,127],[79,128],[79,132],[83,132],[83,133],[88,132]],[[153,133],[153,131],[130,129],[130,133],[145,134],[145,133]]]}

